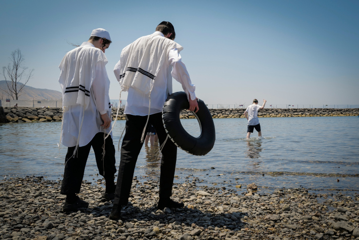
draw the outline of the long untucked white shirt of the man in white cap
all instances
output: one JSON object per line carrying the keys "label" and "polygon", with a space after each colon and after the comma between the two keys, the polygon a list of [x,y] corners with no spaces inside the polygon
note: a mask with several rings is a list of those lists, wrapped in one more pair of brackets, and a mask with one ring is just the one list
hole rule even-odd
{"label": "long untucked white shirt of the man in white cap", "polygon": [[[83,45],[91,45],[92,47],[95,47],[89,42],[84,42],[81,46]],[[73,60],[68,64],[75,65],[76,62],[75,60]],[[79,147],[87,145],[97,133],[105,131],[104,128],[100,126],[102,124],[101,114],[108,113],[109,117],[111,118],[111,108],[109,108],[110,80],[107,76],[106,68],[103,64],[97,64],[95,66],[95,73],[96,77],[93,80],[92,86],[90,88],[89,106],[85,109],[85,111],[83,111],[82,106],[77,105],[68,106],[68,109],[65,109],[65,111],[63,112],[61,142],[66,147],[76,146],[82,116],[83,123],[81,128],[81,134],[79,136]],[[106,76],[106,79],[101,76]],[[62,93],[63,92],[64,89],[62,90]],[[111,126],[110,128],[106,129],[106,133],[109,133],[110,130]]]}

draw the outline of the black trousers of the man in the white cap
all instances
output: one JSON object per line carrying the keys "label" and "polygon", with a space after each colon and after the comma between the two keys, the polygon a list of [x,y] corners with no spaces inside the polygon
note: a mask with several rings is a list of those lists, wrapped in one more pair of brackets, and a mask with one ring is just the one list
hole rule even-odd
{"label": "black trousers of the man in the white cap", "polygon": [[[106,139],[105,158],[102,161],[102,146],[104,145],[104,133],[97,133],[89,144],[79,147],[74,158],[71,158],[75,147],[67,149],[65,157],[65,170],[61,185],[61,194],[80,193],[83,174],[91,146],[95,152],[95,158],[99,172],[105,179],[114,179],[116,173],[115,147],[111,137]],[[104,174],[105,170],[105,174]]]}

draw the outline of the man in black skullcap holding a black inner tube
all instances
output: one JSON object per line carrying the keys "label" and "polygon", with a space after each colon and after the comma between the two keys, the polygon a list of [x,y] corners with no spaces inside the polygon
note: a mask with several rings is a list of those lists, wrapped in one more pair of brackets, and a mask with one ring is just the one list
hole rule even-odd
{"label": "man in black skullcap holding a black inner tube", "polygon": [[[124,110],[126,132],[122,140],[119,175],[110,219],[120,218],[121,207],[128,203],[133,172],[143,145],[142,138],[145,137],[144,128],[152,124],[158,134],[160,146],[166,141],[162,108],[172,93],[172,77],[181,83],[187,93],[189,110],[198,111],[195,86],[191,84],[186,67],[181,61],[179,52],[183,48],[173,41],[175,36],[172,23],[163,21],[156,27],[156,32],[123,48],[120,61],[115,66],[115,76],[122,90],[128,91],[128,96]],[[181,208],[183,203],[170,199],[177,146],[168,140],[161,152],[160,199],[157,207]]]}

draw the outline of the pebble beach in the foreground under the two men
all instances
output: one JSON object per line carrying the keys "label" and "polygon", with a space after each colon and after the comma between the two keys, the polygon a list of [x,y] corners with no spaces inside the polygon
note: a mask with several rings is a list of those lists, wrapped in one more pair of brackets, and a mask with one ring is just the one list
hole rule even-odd
{"label": "pebble beach in the foreground under the two men", "polygon": [[[83,182],[88,209],[65,214],[60,180],[44,177],[0,181],[0,239],[12,240],[344,240],[359,239],[359,195],[317,194],[304,188],[263,194],[253,184],[241,193],[197,186],[191,177],[174,186],[183,209],[158,210],[157,180],[133,179],[122,218],[101,199],[102,179]],[[252,190],[250,190],[252,189]],[[335,192],[333,192],[335,193]]]}

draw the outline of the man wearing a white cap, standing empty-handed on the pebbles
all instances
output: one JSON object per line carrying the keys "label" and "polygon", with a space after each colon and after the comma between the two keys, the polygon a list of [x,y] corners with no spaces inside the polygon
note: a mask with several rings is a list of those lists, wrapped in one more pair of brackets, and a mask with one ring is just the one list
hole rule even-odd
{"label": "man wearing a white cap, standing empty-handed on the pebbles", "polygon": [[110,80],[105,68],[108,62],[105,50],[111,42],[108,31],[95,29],[87,42],[63,57],[59,66],[63,106],[61,143],[68,147],[60,191],[66,195],[64,212],[89,205],[76,193],[80,192],[91,147],[99,172],[106,180],[102,197],[115,197],[115,147],[112,135],[104,140],[110,133],[112,121]]}

